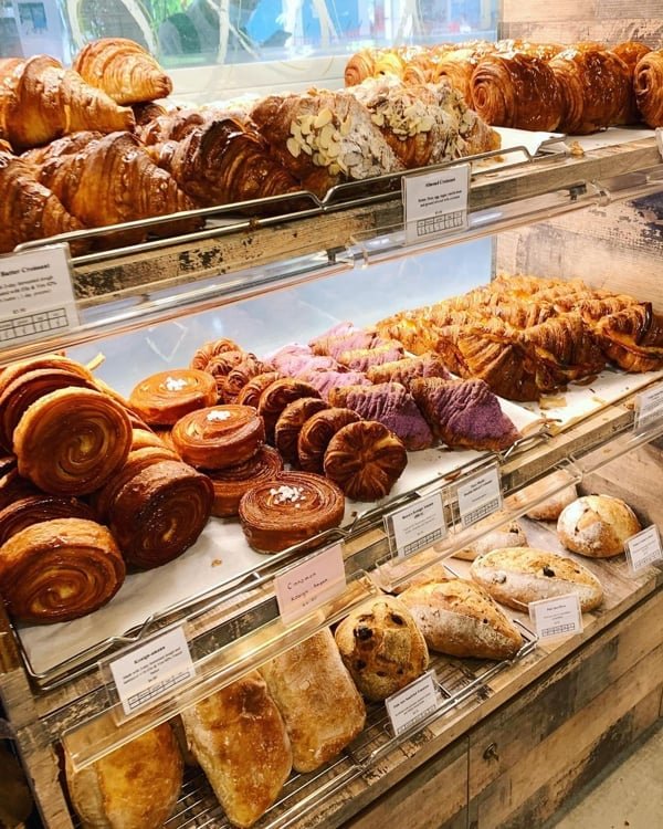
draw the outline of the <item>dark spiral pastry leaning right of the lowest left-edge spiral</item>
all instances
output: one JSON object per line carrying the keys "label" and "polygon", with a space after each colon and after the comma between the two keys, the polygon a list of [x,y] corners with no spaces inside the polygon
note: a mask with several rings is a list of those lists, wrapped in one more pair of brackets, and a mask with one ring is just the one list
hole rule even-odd
{"label": "dark spiral pastry leaning right of the lowest left-edge spiral", "polygon": [[158,567],[198,538],[212,510],[207,475],[181,461],[161,461],[126,483],[108,511],[108,525],[128,564]]}

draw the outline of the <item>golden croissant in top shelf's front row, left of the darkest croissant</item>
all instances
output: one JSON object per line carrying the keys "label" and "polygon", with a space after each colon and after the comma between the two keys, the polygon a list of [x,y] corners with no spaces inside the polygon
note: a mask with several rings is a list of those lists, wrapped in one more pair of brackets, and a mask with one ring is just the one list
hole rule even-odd
{"label": "golden croissant in top shelf's front row, left of the darkest croissant", "polygon": [[[175,179],[150,160],[136,136],[129,133],[112,133],[91,140],[78,153],[46,161],[40,179],[73,216],[91,228],[194,207]],[[173,230],[173,223],[170,228],[155,228],[156,233],[169,230]],[[137,235],[141,238],[143,231]]]}

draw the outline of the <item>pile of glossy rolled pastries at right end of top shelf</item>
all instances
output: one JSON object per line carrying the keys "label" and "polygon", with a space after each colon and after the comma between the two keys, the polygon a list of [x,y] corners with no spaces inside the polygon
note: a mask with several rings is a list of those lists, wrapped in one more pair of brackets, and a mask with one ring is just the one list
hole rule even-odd
{"label": "pile of glossy rolled pastries at right end of top shelf", "polygon": [[633,41],[365,49],[348,61],[345,81],[385,75],[415,86],[445,80],[493,126],[571,135],[639,122],[663,126],[663,50]]}

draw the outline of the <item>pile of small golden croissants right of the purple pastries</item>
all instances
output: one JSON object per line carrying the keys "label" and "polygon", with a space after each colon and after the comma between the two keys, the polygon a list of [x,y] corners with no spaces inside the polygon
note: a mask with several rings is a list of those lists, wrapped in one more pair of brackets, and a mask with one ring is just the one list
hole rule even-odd
{"label": "pile of small golden croissants right of the purple pastries", "polygon": [[651,303],[581,280],[502,275],[376,327],[509,400],[538,400],[596,376],[608,361],[634,372],[663,368],[663,317]]}

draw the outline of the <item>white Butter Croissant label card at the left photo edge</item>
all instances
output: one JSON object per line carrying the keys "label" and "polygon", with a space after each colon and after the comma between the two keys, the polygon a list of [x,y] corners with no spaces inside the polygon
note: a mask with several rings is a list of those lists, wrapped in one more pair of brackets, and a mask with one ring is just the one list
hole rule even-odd
{"label": "white Butter Croissant label card at the left photo edge", "polygon": [[0,256],[0,347],[63,334],[77,324],[66,245]]}

